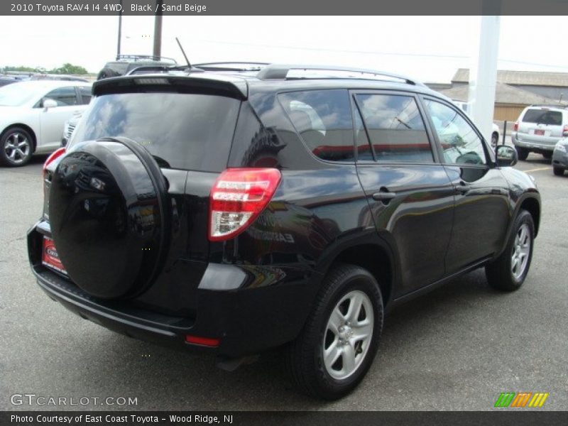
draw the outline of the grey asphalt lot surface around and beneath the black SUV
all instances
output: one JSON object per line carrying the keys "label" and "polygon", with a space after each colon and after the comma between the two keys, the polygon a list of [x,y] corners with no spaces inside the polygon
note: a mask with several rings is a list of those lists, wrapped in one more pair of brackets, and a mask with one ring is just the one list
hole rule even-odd
{"label": "grey asphalt lot surface around and beneath the black SUV", "polygon": [[[365,380],[334,403],[295,393],[278,353],[229,373],[210,356],[129,339],[48,299],[25,238],[42,209],[43,160],[0,168],[0,410],[494,410],[509,391],[550,393],[538,410],[568,408],[568,173],[553,176],[540,155],[515,166],[542,192],[523,288],[498,293],[475,271],[398,307]],[[26,394],[100,399],[13,405]],[[100,405],[108,397],[137,404]]]}

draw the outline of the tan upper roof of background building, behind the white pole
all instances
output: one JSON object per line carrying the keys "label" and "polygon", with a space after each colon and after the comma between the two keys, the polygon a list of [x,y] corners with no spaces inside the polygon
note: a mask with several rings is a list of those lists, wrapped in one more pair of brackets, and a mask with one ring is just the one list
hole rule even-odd
{"label": "tan upper roof of background building, behind the white pole", "polygon": [[[568,87],[568,72],[498,70],[497,81],[515,85]],[[467,82],[469,70],[459,68],[452,78],[452,83]]]}

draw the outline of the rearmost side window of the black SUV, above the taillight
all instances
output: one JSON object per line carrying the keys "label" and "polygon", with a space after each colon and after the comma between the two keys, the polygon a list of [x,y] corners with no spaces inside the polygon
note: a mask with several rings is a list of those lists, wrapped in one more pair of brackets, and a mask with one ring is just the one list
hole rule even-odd
{"label": "rearmost side window of the black SUV, above the taillight", "polygon": [[278,99],[312,153],[323,160],[354,160],[353,122],[346,90],[283,93]]}

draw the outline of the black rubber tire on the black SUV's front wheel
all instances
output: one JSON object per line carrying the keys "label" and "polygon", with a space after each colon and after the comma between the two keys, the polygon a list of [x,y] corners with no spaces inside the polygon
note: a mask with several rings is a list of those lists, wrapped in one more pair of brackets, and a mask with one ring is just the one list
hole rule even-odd
{"label": "black rubber tire on the black SUV's front wheel", "polygon": [[[518,271],[520,274],[515,276],[515,273],[513,273],[513,253],[517,250],[515,242],[518,234],[520,234],[521,228],[525,226],[528,228],[528,241],[530,242],[528,258],[523,271]],[[513,231],[510,234],[505,251],[501,253],[501,256],[499,256],[496,261],[493,261],[485,267],[485,275],[491,287],[497,290],[514,291],[518,290],[520,286],[523,285],[530,268],[534,241],[535,224],[532,221],[532,216],[526,210],[520,210],[513,224]]]}

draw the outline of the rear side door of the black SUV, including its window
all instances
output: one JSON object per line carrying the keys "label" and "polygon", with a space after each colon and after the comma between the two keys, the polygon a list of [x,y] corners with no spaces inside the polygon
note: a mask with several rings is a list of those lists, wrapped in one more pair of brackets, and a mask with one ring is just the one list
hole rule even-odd
{"label": "rear side door of the black SUV, including its window", "polygon": [[444,275],[454,187],[415,94],[354,92],[352,99],[357,173],[378,233],[399,256],[396,297]]}

